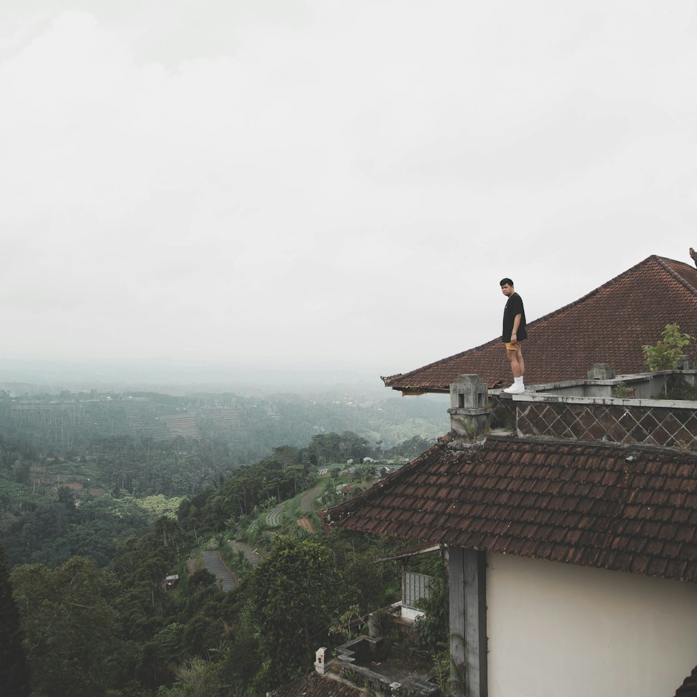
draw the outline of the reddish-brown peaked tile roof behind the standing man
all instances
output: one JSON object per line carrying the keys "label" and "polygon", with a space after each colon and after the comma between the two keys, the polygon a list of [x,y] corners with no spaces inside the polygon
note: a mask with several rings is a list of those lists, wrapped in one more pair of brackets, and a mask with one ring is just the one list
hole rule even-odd
{"label": "reddish-brown peaked tile roof behind the standing man", "polygon": [[[643,372],[641,346],[655,344],[668,323],[697,336],[697,268],[649,256],[576,302],[528,323],[526,383],[585,379],[594,363],[610,363],[618,374]],[[694,345],[690,351],[697,359]],[[489,387],[509,383],[500,337],[383,380],[405,392],[447,392],[460,374],[477,374]]]}

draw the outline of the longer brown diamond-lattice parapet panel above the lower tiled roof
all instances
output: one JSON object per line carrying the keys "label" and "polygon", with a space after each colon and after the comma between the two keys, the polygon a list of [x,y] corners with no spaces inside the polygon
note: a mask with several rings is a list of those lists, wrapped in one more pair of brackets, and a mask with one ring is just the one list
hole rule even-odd
{"label": "longer brown diamond-lattice parapet panel above the lower tiled roof", "polygon": [[531,402],[518,405],[517,427],[526,436],[697,447],[697,410],[674,406]]}

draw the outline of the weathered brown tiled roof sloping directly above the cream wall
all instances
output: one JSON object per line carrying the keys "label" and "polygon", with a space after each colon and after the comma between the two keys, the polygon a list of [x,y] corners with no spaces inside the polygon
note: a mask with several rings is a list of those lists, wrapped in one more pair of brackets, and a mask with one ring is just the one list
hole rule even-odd
{"label": "weathered brown tiled roof sloping directly above the cream wall", "polygon": [[456,450],[450,440],[328,509],[325,521],[697,582],[697,453],[505,436]]}

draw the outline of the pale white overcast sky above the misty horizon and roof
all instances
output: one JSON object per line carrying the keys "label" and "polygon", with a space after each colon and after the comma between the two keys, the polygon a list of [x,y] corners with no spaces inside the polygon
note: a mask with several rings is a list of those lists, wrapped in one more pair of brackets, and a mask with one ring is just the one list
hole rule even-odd
{"label": "pale white overcast sky above the misty horizon and roof", "polygon": [[696,73],[694,0],[3,0],[0,354],[389,375],[691,263]]}

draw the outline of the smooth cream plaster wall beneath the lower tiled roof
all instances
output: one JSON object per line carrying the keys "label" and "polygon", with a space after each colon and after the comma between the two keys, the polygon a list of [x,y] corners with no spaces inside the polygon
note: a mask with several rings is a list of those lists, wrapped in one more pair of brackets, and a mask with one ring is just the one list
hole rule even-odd
{"label": "smooth cream plaster wall beneath the lower tiled roof", "polygon": [[487,556],[489,697],[670,697],[697,664],[697,585]]}

